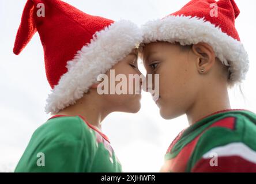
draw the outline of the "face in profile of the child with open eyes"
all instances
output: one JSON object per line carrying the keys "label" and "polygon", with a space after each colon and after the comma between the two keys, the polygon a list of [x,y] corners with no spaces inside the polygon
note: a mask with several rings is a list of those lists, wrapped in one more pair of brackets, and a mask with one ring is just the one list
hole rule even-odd
{"label": "face in profile of the child with open eyes", "polygon": [[[165,119],[187,112],[199,89],[195,55],[182,51],[180,45],[165,42],[146,44],[142,60],[148,74],[159,74],[159,99],[156,104]],[[154,86],[152,86],[154,87]]]}

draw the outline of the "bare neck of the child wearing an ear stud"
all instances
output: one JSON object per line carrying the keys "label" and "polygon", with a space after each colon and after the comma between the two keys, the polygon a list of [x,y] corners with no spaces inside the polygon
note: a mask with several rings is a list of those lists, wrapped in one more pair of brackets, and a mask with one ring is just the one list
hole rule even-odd
{"label": "bare neck of the child wearing an ear stud", "polygon": [[193,125],[197,120],[214,112],[231,109],[227,86],[205,87],[199,90],[198,98],[187,110],[187,120]]}

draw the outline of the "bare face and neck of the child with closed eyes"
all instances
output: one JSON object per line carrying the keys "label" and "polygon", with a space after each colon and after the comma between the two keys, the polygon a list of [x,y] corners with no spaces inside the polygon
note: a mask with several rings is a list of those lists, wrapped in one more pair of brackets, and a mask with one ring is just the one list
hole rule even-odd
{"label": "bare face and neck of the child with closed eyes", "polygon": [[[127,78],[127,90],[129,89],[128,79],[129,74],[141,75],[137,66],[138,53],[137,49],[133,49],[131,53],[124,59],[119,61],[111,70],[115,70],[115,75],[125,74]],[[106,73],[108,79],[110,79],[110,71]],[[110,81],[108,82],[110,84]],[[119,82],[115,82],[115,85]],[[57,114],[53,115],[67,115],[76,116],[80,114],[86,118],[90,124],[101,129],[101,121],[112,112],[127,112],[127,113],[137,113],[140,108],[141,94],[135,94],[135,87],[133,94],[103,94],[97,93],[97,85],[92,85],[88,93],[84,94],[84,97],[78,99],[76,104],[70,105],[67,108],[59,111]],[[135,83],[134,83],[135,86]],[[108,87],[110,90],[110,87]],[[141,91],[141,83],[140,83]]]}

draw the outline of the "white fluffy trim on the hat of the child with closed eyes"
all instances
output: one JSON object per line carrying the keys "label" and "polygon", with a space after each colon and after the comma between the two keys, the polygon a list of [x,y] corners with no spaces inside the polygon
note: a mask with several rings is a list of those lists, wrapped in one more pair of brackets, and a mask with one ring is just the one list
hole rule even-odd
{"label": "white fluffy trim on the hat of the child with closed eyes", "polygon": [[112,66],[129,55],[142,41],[141,30],[130,21],[116,21],[93,35],[91,43],[84,45],[73,60],[67,62],[67,72],[48,95],[46,113],[76,103]]}

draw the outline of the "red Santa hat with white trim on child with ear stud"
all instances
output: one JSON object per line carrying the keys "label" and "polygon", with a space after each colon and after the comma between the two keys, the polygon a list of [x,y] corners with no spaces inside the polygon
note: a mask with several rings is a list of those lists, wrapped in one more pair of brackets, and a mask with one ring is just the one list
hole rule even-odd
{"label": "red Santa hat with white trim on child with ear stud", "polygon": [[242,82],[249,70],[249,59],[235,28],[239,13],[233,0],[191,0],[179,11],[143,25],[143,43],[207,43],[220,61],[229,66],[228,83],[232,87],[236,82]]}

